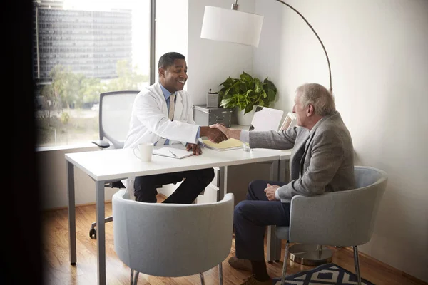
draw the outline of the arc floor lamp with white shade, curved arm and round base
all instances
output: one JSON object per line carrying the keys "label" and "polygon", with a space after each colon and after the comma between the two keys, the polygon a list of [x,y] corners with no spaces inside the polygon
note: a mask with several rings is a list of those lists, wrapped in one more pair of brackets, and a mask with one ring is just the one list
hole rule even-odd
{"label": "arc floor lamp with white shade, curved arm and round base", "polygon": [[[317,32],[312,28],[307,19],[305,19],[305,17],[294,7],[281,0],[275,1],[280,2],[292,9],[292,11],[295,11],[303,21],[305,21],[307,26],[310,27],[318,41],[320,41],[325,57],[327,58],[330,92],[332,93],[332,72],[330,68],[330,60],[320,36],[318,36]],[[238,11],[238,6],[238,0],[235,0],[231,9],[205,6],[200,37],[214,41],[240,43],[257,48],[260,40],[260,33],[262,31],[263,16]],[[280,244],[280,242],[276,242],[276,244]],[[324,264],[332,260],[332,251],[320,245],[313,246],[309,244],[295,244],[290,247],[290,259],[305,265]],[[279,260],[277,254],[275,254],[275,260]]]}

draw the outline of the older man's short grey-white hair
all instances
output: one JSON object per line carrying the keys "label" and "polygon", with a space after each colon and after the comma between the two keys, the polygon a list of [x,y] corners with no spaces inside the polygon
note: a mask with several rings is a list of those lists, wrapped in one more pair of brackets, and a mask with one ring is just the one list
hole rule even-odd
{"label": "older man's short grey-white hair", "polygon": [[300,95],[300,104],[303,108],[312,105],[317,115],[332,115],[336,111],[335,98],[320,84],[305,83],[297,87],[296,95]]}

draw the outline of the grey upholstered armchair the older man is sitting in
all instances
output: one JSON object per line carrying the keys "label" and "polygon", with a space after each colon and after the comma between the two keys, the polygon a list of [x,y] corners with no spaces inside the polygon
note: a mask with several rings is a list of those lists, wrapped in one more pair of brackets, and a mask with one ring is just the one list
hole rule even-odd
{"label": "grey upholstered armchair the older man is sitting in", "polygon": [[276,236],[287,240],[281,284],[287,272],[290,242],[352,246],[355,272],[361,284],[357,246],[372,238],[379,204],[387,187],[387,173],[362,166],[355,166],[354,171],[355,189],[292,197],[290,226],[275,227]]}

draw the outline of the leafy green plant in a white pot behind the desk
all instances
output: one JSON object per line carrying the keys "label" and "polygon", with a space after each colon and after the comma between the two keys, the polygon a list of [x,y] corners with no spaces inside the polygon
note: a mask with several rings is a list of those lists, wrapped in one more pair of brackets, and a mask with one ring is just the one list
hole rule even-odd
{"label": "leafy green plant in a white pot behind the desk", "polygon": [[265,78],[262,82],[259,78],[250,76],[245,71],[240,75],[240,78],[229,76],[219,86],[223,86],[218,91],[221,99],[220,106],[230,109],[236,108],[239,125],[250,125],[254,115],[254,107],[257,105],[269,107],[270,102],[275,100],[277,94],[277,88],[272,81]]}

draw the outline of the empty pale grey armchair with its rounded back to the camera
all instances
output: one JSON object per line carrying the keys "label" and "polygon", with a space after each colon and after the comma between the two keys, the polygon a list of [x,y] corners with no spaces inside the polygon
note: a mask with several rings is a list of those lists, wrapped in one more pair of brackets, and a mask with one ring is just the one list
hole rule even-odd
{"label": "empty pale grey armchair with its rounded back to the camera", "polygon": [[[200,274],[219,266],[232,246],[233,194],[208,204],[143,203],[129,199],[126,190],[113,195],[114,249],[138,273],[178,277]],[[134,272],[136,274],[134,276]]]}

